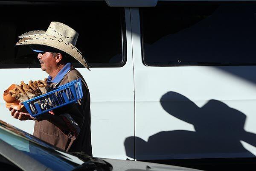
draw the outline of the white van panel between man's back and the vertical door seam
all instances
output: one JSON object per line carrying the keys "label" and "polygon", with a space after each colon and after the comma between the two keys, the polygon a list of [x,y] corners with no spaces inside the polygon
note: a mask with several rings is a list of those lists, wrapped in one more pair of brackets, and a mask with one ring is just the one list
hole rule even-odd
{"label": "white van panel between man's back and the vertical door seam", "polygon": [[[134,81],[130,11],[125,8],[127,61],[116,68],[92,68],[84,72],[91,93],[93,156],[125,160],[124,142],[134,136]],[[132,148],[134,144],[131,144]],[[132,155],[131,155],[132,156]],[[133,157],[132,157],[133,158]]]}

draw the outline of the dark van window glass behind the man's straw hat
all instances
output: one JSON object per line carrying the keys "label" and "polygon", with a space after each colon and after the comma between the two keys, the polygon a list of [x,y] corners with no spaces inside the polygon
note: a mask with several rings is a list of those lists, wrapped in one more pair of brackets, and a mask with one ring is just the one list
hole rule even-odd
{"label": "dark van window glass behind the man's straw hat", "polygon": [[[19,35],[47,30],[51,21],[63,22],[79,33],[76,47],[90,67],[125,64],[124,8],[110,8],[105,2],[5,2],[0,3],[0,16],[0,68],[39,68],[29,46],[15,44]],[[83,67],[76,59],[72,63]]]}

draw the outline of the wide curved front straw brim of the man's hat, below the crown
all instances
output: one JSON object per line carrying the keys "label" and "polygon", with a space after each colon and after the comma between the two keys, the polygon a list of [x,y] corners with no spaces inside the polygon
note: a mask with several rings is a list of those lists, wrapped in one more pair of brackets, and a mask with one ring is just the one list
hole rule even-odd
{"label": "wide curved front straw brim of the man's hat, below the crown", "polygon": [[69,54],[82,65],[84,65],[84,67],[90,70],[88,62],[86,61],[86,59],[84,59],[82,53],[70,42],[64,41],[64,39],[57,39],[55,36],[47,34],[30,34],[20,39],[20,41],[17,42],[16,45],[45,45],[56,48]]}

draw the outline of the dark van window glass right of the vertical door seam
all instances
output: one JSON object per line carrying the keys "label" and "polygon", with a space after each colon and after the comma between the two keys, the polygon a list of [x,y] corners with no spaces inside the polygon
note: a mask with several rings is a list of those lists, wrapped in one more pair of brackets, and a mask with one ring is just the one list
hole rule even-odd
{"label": "dark van window glass right of the vertical door seam", "polygon": [[158,3],[140,8],[148,66],[256,64],[256,3]]}

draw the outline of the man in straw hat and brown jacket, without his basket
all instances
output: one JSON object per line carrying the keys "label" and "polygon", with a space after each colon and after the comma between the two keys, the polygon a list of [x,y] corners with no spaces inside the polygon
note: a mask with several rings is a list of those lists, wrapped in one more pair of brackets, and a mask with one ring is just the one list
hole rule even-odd
{"label": "man in straw hat and brown jacket, without his basket", "polygon": [[34,135],[66,151],[83,151],[92,156],[90,134],[90,93],[84,78],[70,63],[72,57],[87,69],[89,66],[75,47],[78,33],[60,22],[51,22],[47,31],[30,31],[19,36],[16,45],[30,45],[38,53],[41,69],[49,74],[51,88],[82,78],[83,98],[77,104],[33,118],[29,113],[9,108],[11,115],[21,121],[36,120]]}

